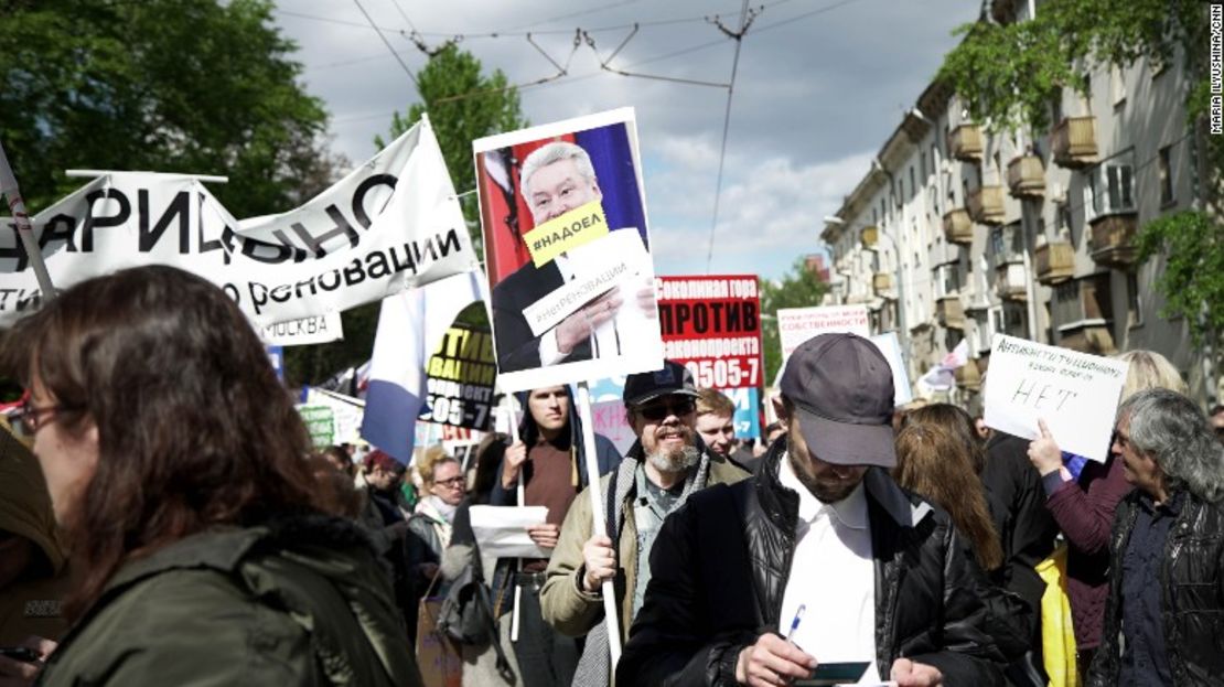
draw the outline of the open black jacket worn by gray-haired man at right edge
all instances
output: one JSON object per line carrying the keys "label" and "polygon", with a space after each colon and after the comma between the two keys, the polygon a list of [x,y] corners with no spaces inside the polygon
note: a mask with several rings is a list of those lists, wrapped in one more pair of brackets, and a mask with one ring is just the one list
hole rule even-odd
{"label": "open black jacket worn by gray-haired man at right edge", "polygon": [[[1140,511],[1140,491],[1118,505],[1109,544],[1109,603],[1088,687],[1118,683],[1121,665],[1122,556]],[[1224,676],[1224,503],[1186,494],[1164,544],[1160,567],[1164,647],[1177,687],[1219,685]]]}

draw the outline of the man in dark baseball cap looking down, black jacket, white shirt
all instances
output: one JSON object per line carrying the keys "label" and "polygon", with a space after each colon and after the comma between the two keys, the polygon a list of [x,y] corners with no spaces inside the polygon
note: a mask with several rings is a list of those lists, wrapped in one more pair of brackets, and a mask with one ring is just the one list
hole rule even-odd
{"label": "man in dark baseball cap looking down, black jacket, white shirt", "polygon": [[[663,524],[617,685],[1004,685],[946,513],[886,471],[892,371],[870,340],[821,334],[787,361],[787,438],[755,475]],[[838,665],[831,665],[838,664]]]}

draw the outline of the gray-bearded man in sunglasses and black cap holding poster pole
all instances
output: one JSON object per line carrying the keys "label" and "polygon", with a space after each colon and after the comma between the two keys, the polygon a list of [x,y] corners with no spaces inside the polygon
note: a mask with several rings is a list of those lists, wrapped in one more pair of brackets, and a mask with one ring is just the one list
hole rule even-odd
{"label": "gray-bearded man in sunglasses and black cap holding poster pole", "polygon": [[748,476],[725,457],[706,451],[695,430],[696,396],[693,374],[671,360],[657,372],[630,375],[623,398],[625,420],[638,441],[621,467],[600,480],[610,536],[591,534],[590,497],[585,494],[565,516],[540,606],[557,631],[586,636],[575,686],[610,681],[603,580],[613,580],[624,642],[645,596],[650,549],[663,519],[694,491]]}

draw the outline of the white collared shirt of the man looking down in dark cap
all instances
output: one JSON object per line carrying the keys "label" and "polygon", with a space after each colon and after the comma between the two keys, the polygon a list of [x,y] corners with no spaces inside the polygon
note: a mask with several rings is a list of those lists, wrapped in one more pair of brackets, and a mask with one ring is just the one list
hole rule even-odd
{"label": "white collared shirt of the man looking down in dark cap", "polygon": [[875,563],[863,485],[842,501],[823,503],[796,476],[788,454],[780,460],[778,480],[799,495],[778,634],[786,637],[796,611],[804,605],[789,639],[820,663],[867,661],[859,682],[878,683]]}

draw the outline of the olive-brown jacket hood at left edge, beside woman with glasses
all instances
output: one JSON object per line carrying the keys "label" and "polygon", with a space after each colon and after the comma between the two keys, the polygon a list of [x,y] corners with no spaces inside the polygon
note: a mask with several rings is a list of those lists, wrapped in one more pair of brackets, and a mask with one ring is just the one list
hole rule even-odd
{"label": "olive-brown jacket hood at left edge, beside woman with glasses", "polygon": [[38,459],[7,426],[0,427],[0,529],[33,541],[59,574],[65,556]]}

